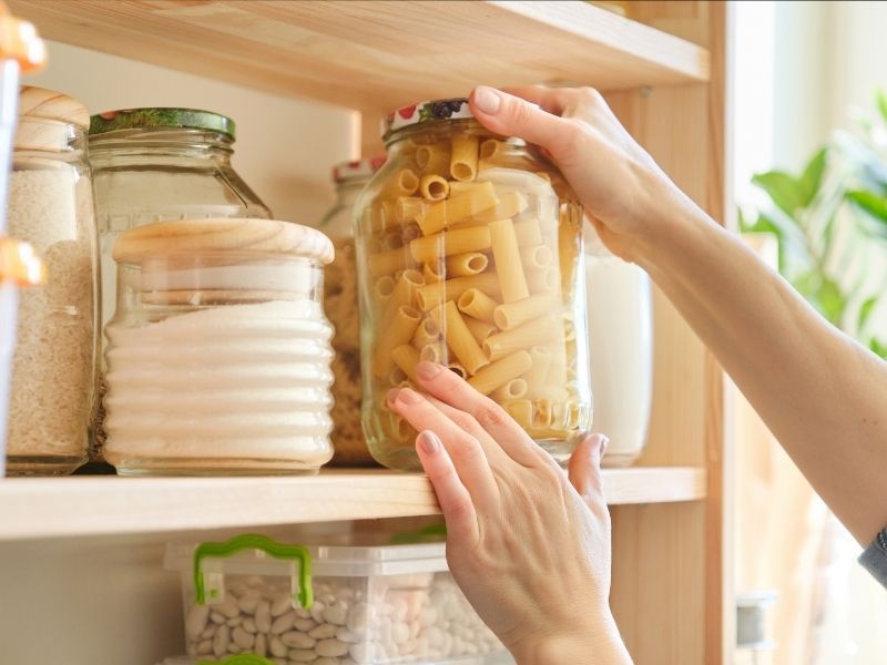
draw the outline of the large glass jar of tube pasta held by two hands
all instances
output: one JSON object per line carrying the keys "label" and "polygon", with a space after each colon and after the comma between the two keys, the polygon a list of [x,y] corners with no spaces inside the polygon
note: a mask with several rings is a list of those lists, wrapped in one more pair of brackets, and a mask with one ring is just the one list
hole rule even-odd
{"label": "large glass jar of tube pasta held by two hands", "polygon": [[437,361],[559,461],[591,426],[582,208],[538,150],[486,131],[465,99],[399,109],[356,207],[364,399],[383,464],[419,469],[386,406]]}

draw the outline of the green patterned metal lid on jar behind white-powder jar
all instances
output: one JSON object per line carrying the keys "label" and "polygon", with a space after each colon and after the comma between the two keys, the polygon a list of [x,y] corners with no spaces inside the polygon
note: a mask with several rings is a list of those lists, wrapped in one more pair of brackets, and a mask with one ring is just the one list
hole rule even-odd
{"label": "green patterned metal lid on jar behind white-powder jar", "polygon": [[120,109],[90,117],[90,136],[121,130],[156,129],[205,130],[235,137],[234,121],[220,113],[200,109]]}

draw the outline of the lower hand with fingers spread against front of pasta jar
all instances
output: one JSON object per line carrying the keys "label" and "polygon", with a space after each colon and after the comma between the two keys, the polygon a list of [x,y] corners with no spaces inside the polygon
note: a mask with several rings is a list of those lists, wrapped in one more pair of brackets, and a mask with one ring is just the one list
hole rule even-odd
{"label": "lower hand with fingers spread against front of pasta jar", "polygon": [[585,439],[568,475],[447,368],[420,362],[417,378],[427,395],[395,389],[388,406],[420,432],[447,561],[471,605],[520,665],[630,663],[609,605],[605,439]]}

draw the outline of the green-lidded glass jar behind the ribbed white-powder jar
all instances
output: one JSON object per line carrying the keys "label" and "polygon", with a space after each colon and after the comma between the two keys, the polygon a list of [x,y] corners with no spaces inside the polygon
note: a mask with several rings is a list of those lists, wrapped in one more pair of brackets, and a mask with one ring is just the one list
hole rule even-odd
{"label": "green-lidded glass jar behind the ribbed white-powder jar", "polygon": [[[116,265],[111,250],[125,231],[170,219],[272,216],[231,165],[234,121],[193,109],[129,109],[93,115],[90,164],[102,274],[102,329],[114,314]],[[102,349],[106,339],[100,336]],[[103,360],[100,354],[99,361]],[[100,392],[103,391],[100,367]],[[103,412],[90,459],[101,460]]]}

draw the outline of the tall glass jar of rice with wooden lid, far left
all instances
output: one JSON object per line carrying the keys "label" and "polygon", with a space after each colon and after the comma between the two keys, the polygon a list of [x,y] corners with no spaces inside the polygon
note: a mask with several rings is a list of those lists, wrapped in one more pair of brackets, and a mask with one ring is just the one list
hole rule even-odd
{"label": "tall glass jar of rice with wooden lid, far left", "polygon": [[95,218],[89,115],[71,98],[23,88],[7,208],[9,233],[43,257],[47,280],[20,294],[7,468],[70,473],[85,461],[96,345]]}

